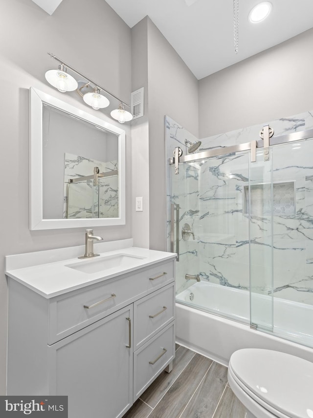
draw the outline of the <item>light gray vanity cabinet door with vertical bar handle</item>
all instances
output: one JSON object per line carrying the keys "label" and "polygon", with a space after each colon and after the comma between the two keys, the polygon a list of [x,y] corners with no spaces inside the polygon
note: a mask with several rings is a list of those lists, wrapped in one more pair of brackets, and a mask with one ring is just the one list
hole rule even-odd
{"label": "light gray vanity cabinet door with vertical bar handle", "polygon": [[130,305],[49,347],[51,394],[68,395],[68,418],[119,418],[133,404],[132,322]]}

